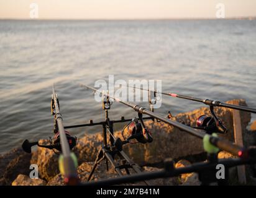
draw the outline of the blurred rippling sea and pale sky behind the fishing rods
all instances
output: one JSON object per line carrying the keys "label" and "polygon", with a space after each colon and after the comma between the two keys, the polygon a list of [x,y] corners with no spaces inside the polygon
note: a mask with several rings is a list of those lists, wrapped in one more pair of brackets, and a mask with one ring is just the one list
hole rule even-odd
{"label": "blurred rippling sea and pale sky behind the fishing rods", "polygon": [[[101,103],[79,83],[94,85],[109,74],[115,80],[162,80],[165,92],[244,98],[256,107],[253,0],[0,0],[0,5],[0,153],[24,139],[52,136],[53,83],[65,125],[104,119]],[[175,115],[200,106],[163,97],[156,112]],[[114,103],[109,116],[135,113]],[[81,137],[101,127],[70,131]]]}

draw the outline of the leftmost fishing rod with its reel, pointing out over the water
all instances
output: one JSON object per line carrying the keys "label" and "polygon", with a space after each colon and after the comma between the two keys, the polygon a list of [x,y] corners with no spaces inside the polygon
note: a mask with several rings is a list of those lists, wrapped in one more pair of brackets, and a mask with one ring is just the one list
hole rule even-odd
{"label": "leftmost fishing rod with its reel, pointing out over the water", "polygon": [[64,182],[68,185],[76,185],[79,183],[76,173],[77,160],[75,154],[70,151],[76,145],[76,137],[71,136],[64,129],[63,118],[60,113],[60,103],[58,101],[58,95],[55,93],[54,85],[52,86],[51,113],[54,115],[55,121],[55,127],[53,129],[55,134],[54,139],[48,140],[49,145],[41,145],[39,142],[25,140],[22,144],[22,149],[25,152],[31,153],[31,147],[37,145],[46,149],[52,149],[55,153],[60,152],[58,163],[60,173],[64,176]]}

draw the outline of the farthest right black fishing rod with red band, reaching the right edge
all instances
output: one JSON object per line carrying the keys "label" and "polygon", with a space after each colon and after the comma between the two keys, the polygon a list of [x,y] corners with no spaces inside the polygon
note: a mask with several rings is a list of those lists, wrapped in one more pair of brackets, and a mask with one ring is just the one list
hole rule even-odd
{"label": "farthest right black fishing rod with red band, reaching the right edge", "polygon": [[[132,86],[126,85],[126,87],[132,87]],[[141,87],[132,87],[132,88],[137,88],[137,89],[140,89],[140,90],[153,92],[153,93],[160,93],[160,94],[163,94],[163,95],[168,95],[169,97],[182,98],[182,99],[185,99],[185,100],[197,101],[199,103],[204,103],[205,105],[209,105],[209,106],[219,106],[219,107],[230,108],[230,109],[233,109],[233,110],[240,110],[240,111],[247,111],[247,112],[250,112],[250,113],[256,113],[255,108],[250,108],[248,106],[231,105],[231,104],[223,103],[223,102],[217,101],[217,100],[195,98],[195,97],[191,97],[191,96],[188,96],[188,95],[180,95],[180,94],[177,94],[177,93],[159,92],[157,90],[150,90],[150,89],[141,88]]]}

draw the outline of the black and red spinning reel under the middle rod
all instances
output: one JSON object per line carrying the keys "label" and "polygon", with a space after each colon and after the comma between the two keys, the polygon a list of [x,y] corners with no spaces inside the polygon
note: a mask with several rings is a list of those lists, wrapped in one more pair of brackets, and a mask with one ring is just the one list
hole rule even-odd
{"label": "black and red spinning reel under the middle rod", "polygon": [[[116,142],[114,145],[116,146],[117,150],[122,150],[122,145],[124,144],[136,144],[136,143],[150,143],[153,141],[153,137],[151,135],[151,132],[147,127],[145,127],[144,121],[142,119],[142,114],[138,113],[139,119],[134,118],[130,123],[128,123],[124,129],[122,129],[122,137],[124,141],[122,141],[120,138],[116,139]],[[124,130],[127,128],[127,131],[129,133],[129,137],[126,139],[124,137]],[[131,142],[130,140],[137,140],[137,142]]]}

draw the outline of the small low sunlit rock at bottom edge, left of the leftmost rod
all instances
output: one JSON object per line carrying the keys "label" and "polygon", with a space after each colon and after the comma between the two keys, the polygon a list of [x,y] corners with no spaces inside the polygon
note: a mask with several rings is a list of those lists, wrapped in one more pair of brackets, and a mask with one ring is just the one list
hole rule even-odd
{"label": "small low sunlit rock at bottom edge, left of the leftmost rod", "polygon": [[12,182],[12,186],[45,186],[46,181],[43,179],[31,179],[29,176],[19,174]]}

